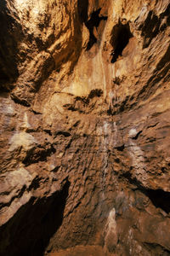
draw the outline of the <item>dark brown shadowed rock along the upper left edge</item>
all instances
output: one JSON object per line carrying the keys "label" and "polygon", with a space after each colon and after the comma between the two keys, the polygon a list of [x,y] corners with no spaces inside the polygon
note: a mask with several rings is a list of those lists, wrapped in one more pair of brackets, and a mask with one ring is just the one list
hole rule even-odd
{"label": "dark brown shadowed rock along the upper left edge", "polygon": [[0,93],[12,90],[11,85],[19,76],[17,68],[17,39],[21,38],[21,26],[9,14],[7,2],[0,3]]}

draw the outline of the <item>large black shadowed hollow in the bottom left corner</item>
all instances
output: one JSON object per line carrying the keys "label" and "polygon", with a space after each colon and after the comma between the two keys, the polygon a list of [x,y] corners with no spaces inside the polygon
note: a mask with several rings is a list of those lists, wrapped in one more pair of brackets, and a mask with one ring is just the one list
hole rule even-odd
{"label": "large black shadowed hollow in the bottom left corner", "polygon": [[0,228],[0,255],[42,256],[50,238],[63,221],[71,183],[50,197],[29,202]]}

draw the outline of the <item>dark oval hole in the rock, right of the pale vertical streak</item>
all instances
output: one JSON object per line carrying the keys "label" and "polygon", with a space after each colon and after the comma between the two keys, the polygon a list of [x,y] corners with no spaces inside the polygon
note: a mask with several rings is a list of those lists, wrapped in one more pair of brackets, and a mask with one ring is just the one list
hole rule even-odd
{"label": "dark oval hole in the rock, right of the pale vertical streak", "polygon": [[116,62],[118,56],[122,56],[123,49],[125,49],[129,39],[132,37],[129,24],[122,25],[122,23],[119,23],[113,27],[111,36],[111,45],[113,47],[111,63]]}

